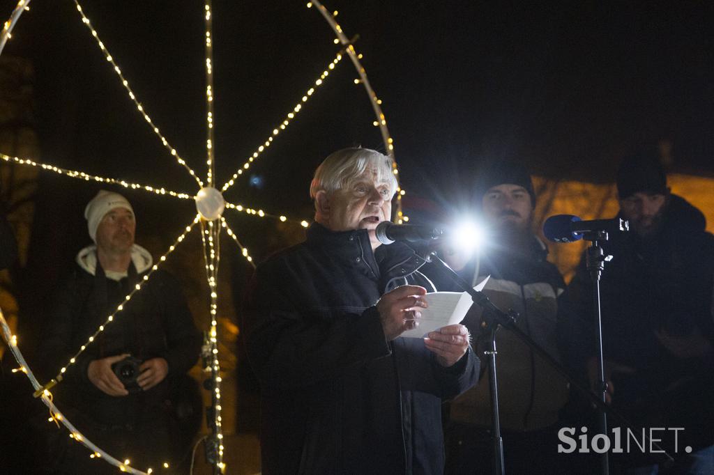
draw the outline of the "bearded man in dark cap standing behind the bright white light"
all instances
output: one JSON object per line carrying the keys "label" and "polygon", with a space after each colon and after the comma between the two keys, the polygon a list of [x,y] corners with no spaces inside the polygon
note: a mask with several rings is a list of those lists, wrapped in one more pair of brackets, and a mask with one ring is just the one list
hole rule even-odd
{"label": "bearded man in dark cap standing behind the bright white light", "polygon": [[[546,260],[548,247],[533,233],[535,193],[531,175],[516,160],[481,166],[473,187],[475,211],[488,227],[488,239],[476,256],[463,258],[445,250],[445,260],[469,282],[481,282],[483,292],[504,310],[520,314],[516,325],[555,359],[561,322],[568,319],[563,304],[565,282]],[[434,270],[438,290],[460,290]],[[479,356],[488,350],[481,331],[481,309],[474,306],[463,320]],[[485,338],[484,338],[485,337]],[[557,454],[559,412],[568,400],[568,384],[555,369],[513,333],[498,332],[498,399],[506,473],[567,473],[566,454]],[[486,356],[484,356],[485,358]],[[484,364],[486,366],[486,364]],[[491,473],[491,398],[487,377],[456,398],[446,425],[446,473]]]}

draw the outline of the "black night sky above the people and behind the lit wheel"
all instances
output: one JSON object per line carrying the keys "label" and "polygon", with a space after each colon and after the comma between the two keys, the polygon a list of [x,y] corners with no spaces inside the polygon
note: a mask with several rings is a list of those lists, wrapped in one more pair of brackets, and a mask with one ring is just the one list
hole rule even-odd
{"label": "black night sky above the people and behind the lit wheel", "polygon": [[[479,160],[503,156],[523,158],[541,175],[610,180],[624,153],[660,139],[673,141],[676,170],[714,173],[710,4],[494,3],[326,2],[348,36],[361,35],[356,47],[383,99],[407,190],[446,193],[468,181]],[[204,174],[202,3],[83,6],[146,111]],[[305,1],[216,0],[213,10],[216,160],[225,180],[337,46]],[[35,0],[5,53],[34,61],[42,160],[195,191],[134,110],[71,1]],[[226,199],[308,218],[308,183],[324,156],[349,145],[382,148],[354,77],[343,61],[256,163],[264,188],[243,178]],[[49,202],[69,210],[83,209],[96,191],[44,180]],[[161,198],[147,204],[152,215],[164,205]],[[188,219],[193,208],[183,208]],[[173,212],[156,219],[166,215],[178,219]],[[82,223],[79,213],[68,219]]]}

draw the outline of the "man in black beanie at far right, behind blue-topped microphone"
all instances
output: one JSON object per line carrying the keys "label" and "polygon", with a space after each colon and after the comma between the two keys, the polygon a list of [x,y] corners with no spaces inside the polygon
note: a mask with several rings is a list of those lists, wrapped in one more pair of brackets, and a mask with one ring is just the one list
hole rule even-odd
{"label": "man in black beanie at far right, behind blue-topped microphone", "polygon": [[[670,193],[655,154],[625,158],[617,188],[630,233],[603,245],[613,256],[600,282],[605,379],[613,406],[635,427],[670,428],[654,434],[663,434],[675,458],[658,467],[662,454],[647,446],[619,462],[640,466],[638,474],[714,473],[714,236],[700,210]],[[568,293],[586,326],[593,322],[590,289],[581,262]],[[581,345],[590,357],[592,331]],[[588,372],[594,381],[592,358]],[[681,429],[676,440],[671,428]]]}

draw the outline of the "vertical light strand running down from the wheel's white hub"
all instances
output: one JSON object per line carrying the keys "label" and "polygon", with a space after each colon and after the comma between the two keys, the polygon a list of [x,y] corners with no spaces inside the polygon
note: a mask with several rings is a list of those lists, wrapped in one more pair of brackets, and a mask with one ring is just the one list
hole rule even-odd
{"label": "vertical light strand running down from the wheel's white hub", "polygon": [[[221,220],[223,218],[221,217]],[[221,259],[221,228],[214,221],[201,221],[201,242],[203,243],[203,260],[206,264],[206,280],[208,280],[208,290],[211,292],[211,330],[209,332],[209,349],[213,361],[208,367],[213,377],[213,392],[211,393],[211,403],[214,408],[213,414],[213,436],[218,449],[218,459],[216,466],[223,471],[223,431],[221,429],[221,367],[218,363],[218,287],[216,280],[218,277],[218,266]],[[204,368],[204,371],[206,369]]]}

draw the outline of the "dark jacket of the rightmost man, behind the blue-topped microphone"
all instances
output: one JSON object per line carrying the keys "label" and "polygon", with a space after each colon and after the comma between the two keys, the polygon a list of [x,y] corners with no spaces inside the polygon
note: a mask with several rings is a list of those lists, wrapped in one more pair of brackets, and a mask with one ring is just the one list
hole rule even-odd
{"label": "dark jacket of the rightmost man, behind the blue-topped microphone", "polygon": [[[656,235],[612,238],[603,246],[613,260],[600,283],[603,352],[632,371],[613,373],[613,404],[642,427],[683,427],[680,450],[712,444],[714,236],[705,232],[704,215],[670,195]],[[589,324],[590,277],[582,263],[568,290]],[[588,328],[582,347],[595,354]],[[707,345],[708,352],[698,350]]]}

